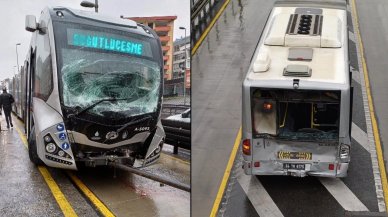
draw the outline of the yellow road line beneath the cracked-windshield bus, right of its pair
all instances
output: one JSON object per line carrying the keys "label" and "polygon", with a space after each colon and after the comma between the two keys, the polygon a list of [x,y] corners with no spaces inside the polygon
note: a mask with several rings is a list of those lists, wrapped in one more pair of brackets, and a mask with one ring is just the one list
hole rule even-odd
{"label": "yellow road line beneath the cracked-windshield bus, right of its pair", "polygon": [[103,202],[101,202],[100,199],[96,195],[93,194],[93,192],[86,187],[86,185],[77,177],[74,175],[74,173],[67,171],[67,175],[73,180],[74,184],[77,185],[77,187],[84,193],[84,195],[94,204],[94,206],[100,211],[100,213],[103,216],[115,216],[108,207],[105,206]]}

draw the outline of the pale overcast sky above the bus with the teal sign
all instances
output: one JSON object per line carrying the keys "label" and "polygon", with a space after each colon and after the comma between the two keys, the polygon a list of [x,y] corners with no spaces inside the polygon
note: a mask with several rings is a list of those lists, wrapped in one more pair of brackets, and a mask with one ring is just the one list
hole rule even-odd
{"label": "pale overcast sky above the bus with the teal sign", "polygon": [[[79,6],[82,0],[0,0],[0,81],[13,76],[16,66],[16,43],[18,46],[19,67],[24,62],[31,33],[24,30],[25,16],[39,14],[46,6],[66,6],[75,9],[94,11],[94,8]],[[89,0],[94,2],[93,0]],[[179,26],[190,34],[189,0],[99,0],[98,12],[113,17],[177,16],[174,38],[184,36]]]}

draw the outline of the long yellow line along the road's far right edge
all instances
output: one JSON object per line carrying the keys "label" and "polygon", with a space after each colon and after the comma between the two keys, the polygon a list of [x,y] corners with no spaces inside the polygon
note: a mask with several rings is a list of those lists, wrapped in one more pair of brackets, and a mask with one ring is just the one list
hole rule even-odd
{"label": "long yellow line along the road's far right edge", "polygon": [[383,186],[383,193],[384,193],[384,201],[385,206],[388,206],[388,182],[387,182],[387,175],[385,172],[385,165],[384,165],[384,158],[383,158],[383,150],[381,148],[381,142],[380,142],[380,134],[379,134],[379,127],[377,125],[376,120],[376,114],[373,106],[373,98],[370,90],[370,81],[369,81],[369,74],[368,74],[368,68],[366,65],[365,57],[364,57],[364,45],[362,43],[362,38],[360,34],[360,27],[358,22],[358,14],[357,14],[357,7],[355,0],[352,0],[352,11],[355,15],[355,31],[357,32],[357,37],[360,42],[360,55],[361,55],[361,62],[362,62],[362,69],[364,70],[364,79],[365,79],[365,87],[366,87],[366,93],[368,96],[368,104],[369,104],[369,110],[370,110],[370,116],[372,121],[372,128],[373,128],[373,136],[375,138],[375,144],[376,144],[376,153],[377,153],[377,160],[379,163],[379,169],[380,169],[380,176],[381,176],[381,184]]}

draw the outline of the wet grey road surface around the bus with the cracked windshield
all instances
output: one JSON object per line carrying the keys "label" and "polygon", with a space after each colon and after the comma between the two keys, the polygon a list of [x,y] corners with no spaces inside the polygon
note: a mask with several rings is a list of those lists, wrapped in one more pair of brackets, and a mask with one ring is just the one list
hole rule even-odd
{"label": "wet grey road surface around the bus with the cracked windshield", "polygon": [[[28,158],[16,130],[6,129],[0,117],[0,216],[63,216],[53,193]],[[14,121],[19,129],[19,121]],[[190,152],[172,154],[165,145],[158,163],[146,170],[175,181],[190,183]],[[94,204],[77,190],[66,172],[49,168],[78,216],[99,216]],[[86,168],[76,176],[115,216],[190,216],[190,193],[112,168]]]}

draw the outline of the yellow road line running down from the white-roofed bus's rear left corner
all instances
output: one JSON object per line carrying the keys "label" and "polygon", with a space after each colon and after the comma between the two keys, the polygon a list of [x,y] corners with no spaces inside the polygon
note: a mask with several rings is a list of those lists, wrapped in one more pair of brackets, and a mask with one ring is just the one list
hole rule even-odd
{"label": "yellow road line running down from the white-roofed bus's rear left corner", "polygon": [[230,172],[232,171],[233,162],[234,162],[234,159],[236,158],[236,154],[237,154],[238,147],[240,145],[240,141],[241,141],[241,127],[238,131],[236,140],[234,141],[232,153],[230,154],[228,164],[226,165],[224,177],[222,178],[220,188],[218,189],[216,199],[214,200],[214,204],[213,204],[212,212],[210,213],[210,217],[215,217],[217,215],[217,211],[220,207],[220,203],[222,200],[222,196],[224,195],[224,192],[225,192],[225,188],[226,188],[226,184],[228,182],[229,176],[230,176]]}

